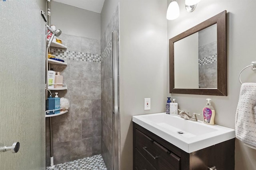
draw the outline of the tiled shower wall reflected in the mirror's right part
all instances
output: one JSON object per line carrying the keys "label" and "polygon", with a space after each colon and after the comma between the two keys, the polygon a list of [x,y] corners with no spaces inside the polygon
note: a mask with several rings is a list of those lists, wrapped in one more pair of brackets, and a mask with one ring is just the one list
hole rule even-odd
{"label": "tiled shower wall reflected in the mirror's right part", "polygon": [[199,88],[217,88],[217,41],[198,47]]}

